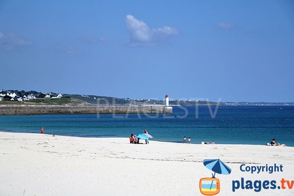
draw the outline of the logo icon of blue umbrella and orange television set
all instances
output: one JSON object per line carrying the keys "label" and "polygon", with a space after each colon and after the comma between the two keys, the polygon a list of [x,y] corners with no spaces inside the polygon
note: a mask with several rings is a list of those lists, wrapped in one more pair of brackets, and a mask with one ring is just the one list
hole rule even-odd
{"label": "logo icon of blue umbrella and orange television set", "polygon": [[232,170],[221,162],[220,159],[205,159],[203,161],[204,166],[211,170],[212,177],[211,178],[201,178],[199,182],[199,189],[201,194],[206,196],[213,196],[220,193],[220,180],[215,177],[216,173],[228,175],[232,172]]}

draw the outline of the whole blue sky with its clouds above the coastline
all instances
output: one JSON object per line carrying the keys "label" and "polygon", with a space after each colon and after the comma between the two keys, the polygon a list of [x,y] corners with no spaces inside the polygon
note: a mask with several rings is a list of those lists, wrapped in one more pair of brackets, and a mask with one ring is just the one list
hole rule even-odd
{"label": "whole blue sky with its clouds above the coastline", "polygon": [[294,102],[293,0],[0,0],[0,89]]}

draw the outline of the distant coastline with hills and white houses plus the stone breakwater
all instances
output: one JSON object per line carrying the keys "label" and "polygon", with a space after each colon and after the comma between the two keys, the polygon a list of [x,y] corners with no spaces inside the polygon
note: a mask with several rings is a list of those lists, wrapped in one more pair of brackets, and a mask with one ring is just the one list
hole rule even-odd
{"label": "distant coastline with hills and white houses plus the stone breakwater", "polygon": [[[170,99],[170,106],[291,106],[294,102],[213,102]],[[172,113],[164,100],[70,95],[37,91],[0,91],[0,115]]]}

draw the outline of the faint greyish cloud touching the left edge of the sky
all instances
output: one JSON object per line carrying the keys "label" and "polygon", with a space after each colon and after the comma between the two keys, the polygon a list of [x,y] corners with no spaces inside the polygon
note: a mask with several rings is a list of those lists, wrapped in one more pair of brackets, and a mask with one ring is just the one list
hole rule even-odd
{"label": "faint greyish cloud touching the left edge of the sky", "polygon": [[18,37],[13,33],[4,34],[0,32],[0,49],[12,50],[17,47],[29,45],[32,45],[32,43]]}

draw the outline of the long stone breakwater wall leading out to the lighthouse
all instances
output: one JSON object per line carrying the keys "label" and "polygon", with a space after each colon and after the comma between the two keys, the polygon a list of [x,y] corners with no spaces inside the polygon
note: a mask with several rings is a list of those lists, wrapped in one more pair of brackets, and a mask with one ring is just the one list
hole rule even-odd
{"label": "long stone breakwater wall leading out to the lighthouse", "polygon": [[131,106],[56,106],[56,105],[0,105],[0,115],[35,114],[162,114],[172,113],[164,105]]}

